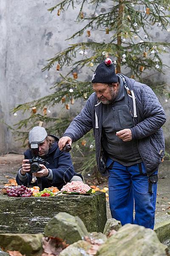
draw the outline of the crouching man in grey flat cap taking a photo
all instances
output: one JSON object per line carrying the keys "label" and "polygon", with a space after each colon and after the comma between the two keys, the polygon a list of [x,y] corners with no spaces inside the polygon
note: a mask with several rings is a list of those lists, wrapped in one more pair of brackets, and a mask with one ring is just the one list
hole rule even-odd
{"label": "crouching man in grey flat cap taking a photo", "polygon": [[59,150],[58,140],[54,135],[48,135],[43,127],[31,129],[29,149],[24,152],[25,159],[16,177],[18,185],[61,189],[72,180],[82,181],[82,175],[74,171],[70,153]]}

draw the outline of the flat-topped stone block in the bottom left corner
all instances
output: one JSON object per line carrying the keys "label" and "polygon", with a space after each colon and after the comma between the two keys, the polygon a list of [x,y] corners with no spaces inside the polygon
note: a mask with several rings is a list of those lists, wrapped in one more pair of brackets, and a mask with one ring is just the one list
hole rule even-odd
{"label": "flat-topped stone block in the bottom left corner", "polygon": [[40,255],[42,253],[42,234],[0,234],[0,246],[5,251],[20,251],[26,256]]}

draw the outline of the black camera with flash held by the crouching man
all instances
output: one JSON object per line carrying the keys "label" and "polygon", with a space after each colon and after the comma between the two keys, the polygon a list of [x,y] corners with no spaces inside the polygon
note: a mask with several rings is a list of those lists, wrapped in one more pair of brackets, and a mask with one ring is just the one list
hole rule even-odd
{"label": "black camera with flash held by the crouching man", "polygon": [[29,163],[31,164],[31,172],[39,172],[41,169],[40,164],[46,165],[49,163],[38,156],[38,154],[39,154],[39,143],[38,142],[31,142],[31,151],[33,154],[33,158],[28,159]]}

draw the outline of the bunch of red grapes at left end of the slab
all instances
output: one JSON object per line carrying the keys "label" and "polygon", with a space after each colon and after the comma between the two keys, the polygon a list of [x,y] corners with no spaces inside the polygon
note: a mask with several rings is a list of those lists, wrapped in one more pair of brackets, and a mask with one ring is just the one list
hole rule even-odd
{"label": "bunch of red grapes at left end of the slab", "polygon": [[6,189],[8,196],[11,197],[30,197],[32,195],[31,189],[26,186],[13,186],[12,188]]}

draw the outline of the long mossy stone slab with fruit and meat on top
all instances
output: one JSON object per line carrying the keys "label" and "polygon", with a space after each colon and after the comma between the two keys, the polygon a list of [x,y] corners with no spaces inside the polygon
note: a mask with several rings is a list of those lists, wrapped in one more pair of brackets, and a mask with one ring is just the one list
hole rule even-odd
{"label": "long mossy stone slab with fruit and meat on top", "polygon": [[103,232],[107,221],[105,193],[46,198],[1,195],[0,233],[43,233],[48,221],[59,212],[78,216],[88,232]]}

